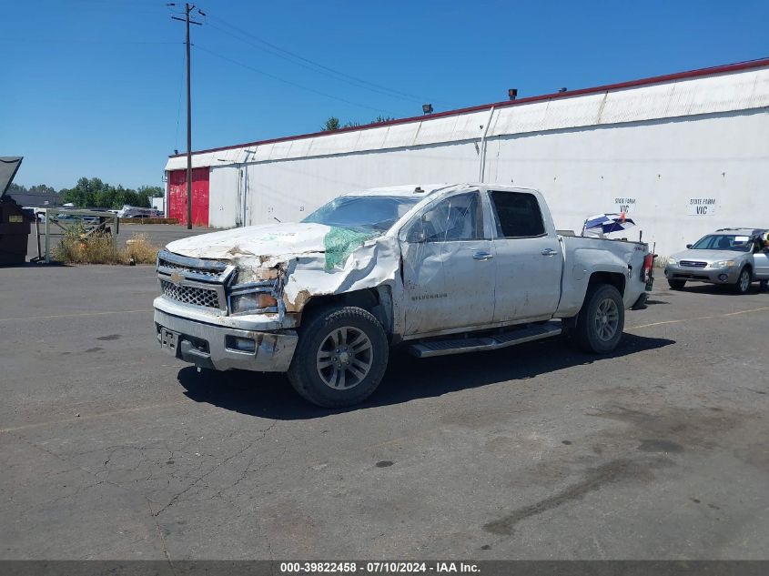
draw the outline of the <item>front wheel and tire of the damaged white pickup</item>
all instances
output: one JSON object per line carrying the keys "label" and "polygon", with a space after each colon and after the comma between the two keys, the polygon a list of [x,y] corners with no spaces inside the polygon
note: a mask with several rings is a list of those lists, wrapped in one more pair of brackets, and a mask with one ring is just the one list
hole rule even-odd
{"label": "front wheel and tire of the damaged white pickup", "polygon": [[377,389],[389,353],[384,328],[369,312],[355,307],[326,308],[301,328],[288,380],[313,404],[352,406]]}

